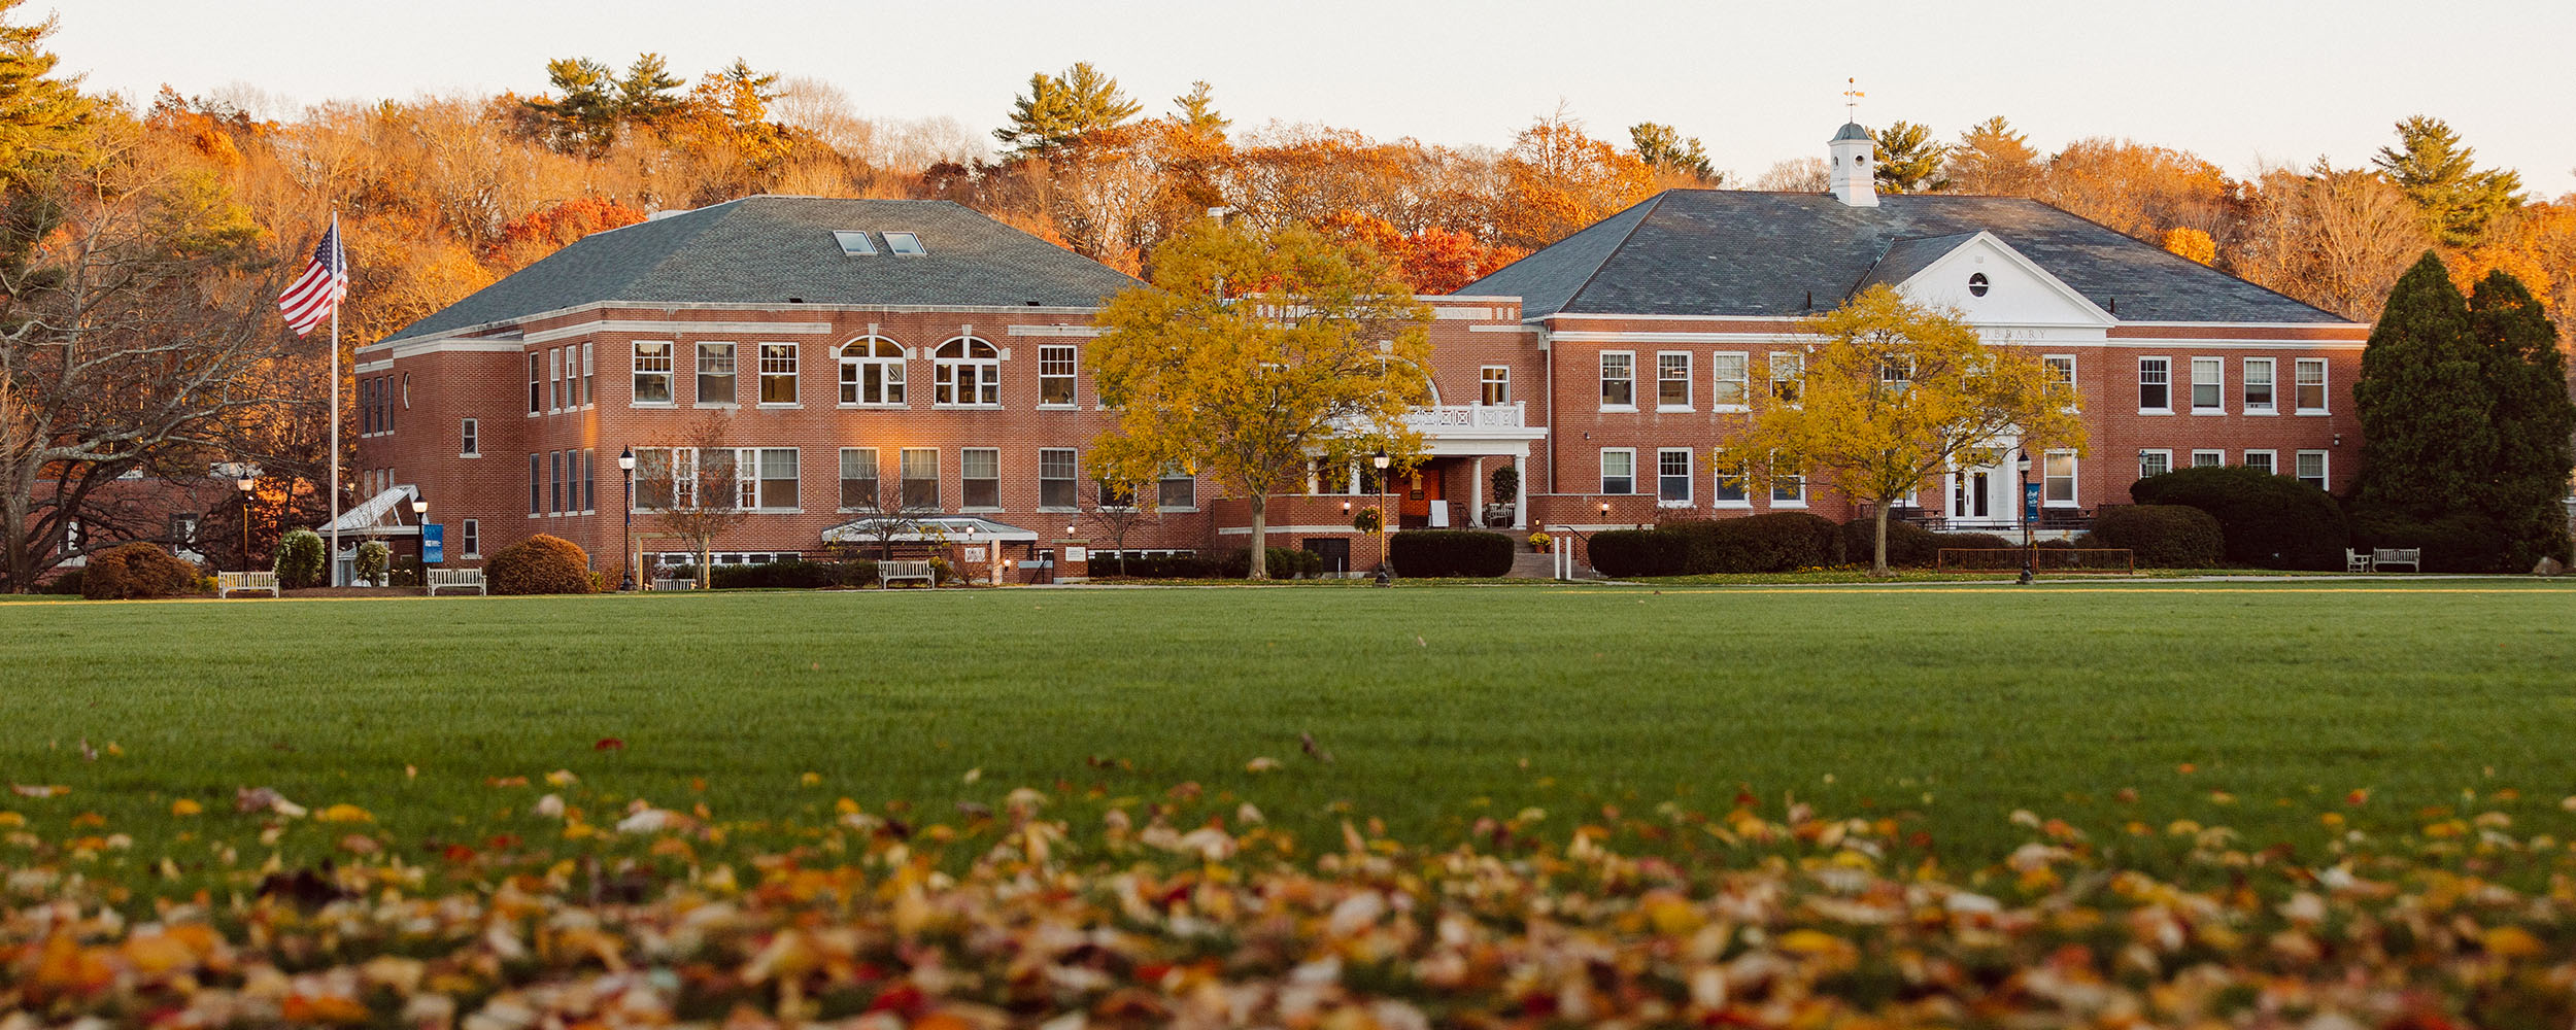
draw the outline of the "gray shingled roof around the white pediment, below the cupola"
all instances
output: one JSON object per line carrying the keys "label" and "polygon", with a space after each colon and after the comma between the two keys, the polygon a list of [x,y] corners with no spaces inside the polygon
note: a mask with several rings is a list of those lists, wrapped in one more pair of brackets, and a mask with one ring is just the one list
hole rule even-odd
{"label": "gray shingled roof around the white pediment, below the cupola", "polygon": [[2123,322],[2344,322],[2038,201],[1942,193],[1852,209],[1824,193],[1664,191],[1461,294],[1522,296],[1525,317],[1798,317],[1981,229]]}

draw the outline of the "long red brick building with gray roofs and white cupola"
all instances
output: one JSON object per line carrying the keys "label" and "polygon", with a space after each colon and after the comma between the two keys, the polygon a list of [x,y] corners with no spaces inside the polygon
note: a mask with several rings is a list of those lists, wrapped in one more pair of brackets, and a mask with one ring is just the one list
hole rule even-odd
{"label": "long red brick building with gray roofs and white cupola", "polygon": [[[1708,464],[1798,381],[1801,319],[1888,283],[1958,306],[1991,342],[2038,348],[2089,417],[2084,456],[2045,453],[2056,515],[2128,502],[2190,464],[2257,464],[2342,489],[2367,324],[2141,245],[2035,201],[1875,196],[1857,126],[1829,193],[1667,191],[1453,296],[1430,296],[1427,461],[1388,487],[1401,525],[1636,525],[1759,510],[1857,515],[1832,484],[1747,497]],[[1108,427],[1082,342],[1123,273],[945,201],[752,196],[587,237],[358,350],[361,500],[420,489],[448,561],[533,533],[621,554],[616,456],[693,461],[729,417],[752,512],[719,561],[853,538],[899,479],[951,536],[999,556],[1103,548],[1079,518],[1082,453]],[[1492,497],[1515,466],[1515,497]],[[1960,469],[1917,518],[2012,528],[2009,461]],[[1365,569],[1350,530],[1368,469],[1314,469],[1270,502],[1273,546]],[[1154,484],[1133,551],[1249,543],[1242,500]],[[685,551],[636,515],[641,554]],[[1079,566],[1064,566],[1079,574]]]}

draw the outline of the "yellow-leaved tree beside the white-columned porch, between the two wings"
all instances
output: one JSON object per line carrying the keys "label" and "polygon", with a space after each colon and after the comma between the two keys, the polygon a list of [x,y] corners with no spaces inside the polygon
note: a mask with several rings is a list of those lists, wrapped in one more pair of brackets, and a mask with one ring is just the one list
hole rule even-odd
{"label": "yellow-leaved tree beside the white-columned porch, between the two wings", "polygon": [[1090,363],[1118,422],[1092,443],[1092,474],[1216,476],[1252,505],[1252,579],[1267,579],[1265,505],[1309,461],[1386,448],[1414,464],[1404,409],[1430,399],[1430,319],[1365,247],[1203,219],[1154,250],[1149,286],[1100,309]]}

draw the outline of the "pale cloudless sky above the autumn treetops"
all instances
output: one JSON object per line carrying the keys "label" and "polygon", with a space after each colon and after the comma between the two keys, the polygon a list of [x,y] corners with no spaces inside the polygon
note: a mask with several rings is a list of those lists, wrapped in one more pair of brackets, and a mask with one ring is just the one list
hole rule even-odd
{"label": "pale cloudless sky above the autumn treetops", "polygon": [[[28,8],[41,10],[46,0]],[[1564,100],[1595,136],[1667,121],[1754,178],[1860,121],[1942,139],[2002,113],[2040,152],[2079,136],[2192,149],[2246,175],[2360,165],[2409,113],[2447,118],[2535,198],[2576,191],[2576,3],[1074,3],[1074,0],[54,0],[90,90],[255,85],[289,103],[544,90],[551,57],[685,77],[752,67],[842,88],[863,116],[1002,121],[1030,72],[1087,59],[1149,113],[1190,80],[1236,129],[1316,121],[1502,147]],[[33,13],[21,8],[23,13]]]}

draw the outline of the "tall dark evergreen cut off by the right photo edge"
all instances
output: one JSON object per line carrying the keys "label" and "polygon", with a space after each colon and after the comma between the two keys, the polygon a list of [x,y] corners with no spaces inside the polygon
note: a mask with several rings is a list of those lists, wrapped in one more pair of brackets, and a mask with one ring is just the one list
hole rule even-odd
{"label": "tall dark evergreen cut off by the right photo edge", "polygon": [[2543,554],[2566,559],[2576,404],[2568,402],[2558,330],[2540,299],[2504,270],[2478,281],[2468,296],[2468,324],[2494,397],[2496,430],[2496,458],[2478,507],[2512,541],[2504,572],[2527,569]]}

